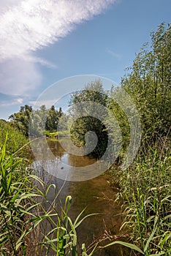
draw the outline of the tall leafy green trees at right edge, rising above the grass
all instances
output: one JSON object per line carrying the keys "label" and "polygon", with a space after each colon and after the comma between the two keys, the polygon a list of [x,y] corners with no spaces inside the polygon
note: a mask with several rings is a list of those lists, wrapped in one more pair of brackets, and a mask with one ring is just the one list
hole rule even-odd
{"label": "tall leafy green trees at right edge, rising above the grass", "polygon": [[171,83],[171,26],[164,23],[151,34],[151,49],[148,44],[140,53],[122,86],[140,112],[143,138],[156,140],[167,135],[170,128],[170,83]]}

